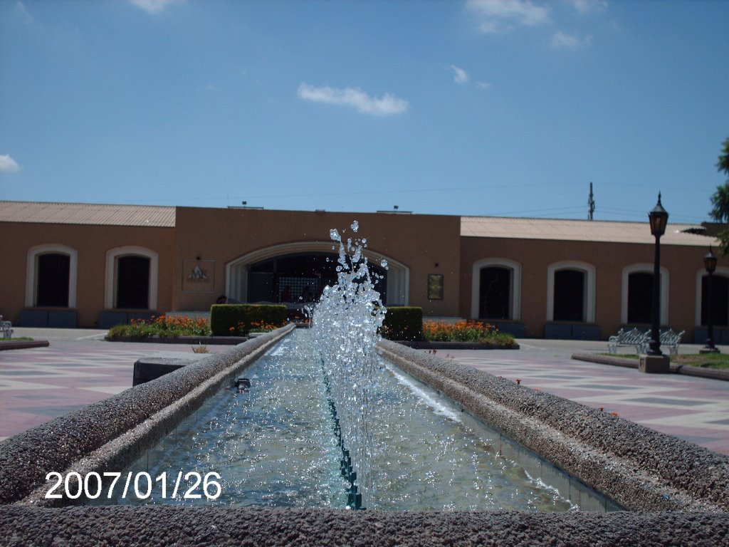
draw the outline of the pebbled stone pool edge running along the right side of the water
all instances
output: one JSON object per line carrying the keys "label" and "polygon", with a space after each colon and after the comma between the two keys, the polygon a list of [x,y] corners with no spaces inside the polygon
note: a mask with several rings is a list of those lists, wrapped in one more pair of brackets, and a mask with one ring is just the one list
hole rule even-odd
{"label": "pebbled stone pool edge running along the right side of the water", "polygon": [[382,341],[399,368],[632,511],[729,511],[729,457],[596,408]]}

